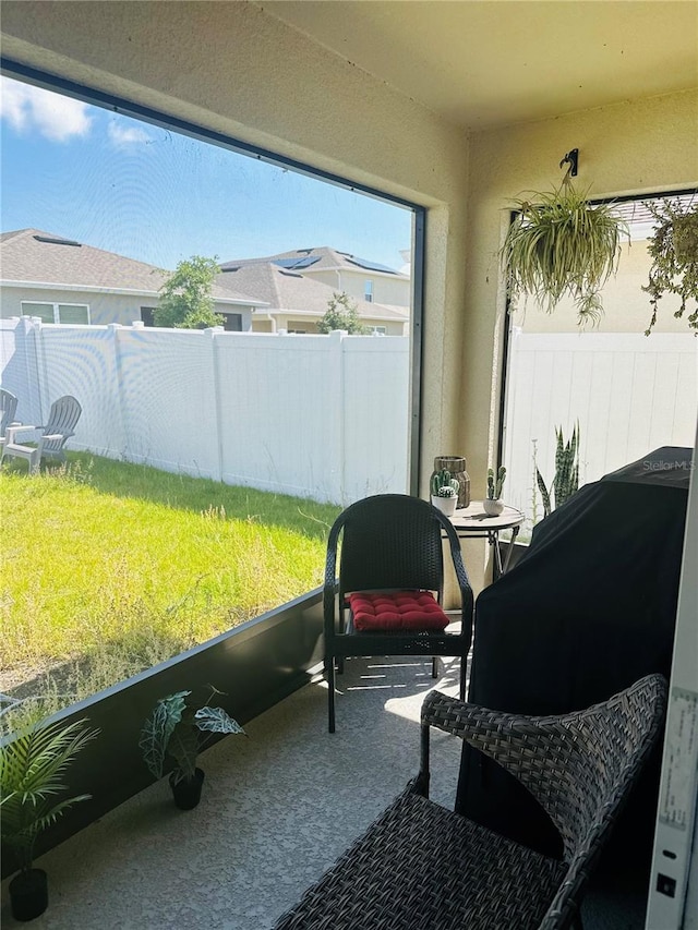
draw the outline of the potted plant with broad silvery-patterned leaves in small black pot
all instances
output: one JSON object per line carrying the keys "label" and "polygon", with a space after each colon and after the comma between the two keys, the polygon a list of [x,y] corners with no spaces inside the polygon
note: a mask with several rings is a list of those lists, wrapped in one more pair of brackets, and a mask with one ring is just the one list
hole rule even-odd
{"label": "potted plant with broad silvery-patterned leaves in small black pot", "polygon": [[141,730],[139,746],[156,778],[163,777],[168,759],[174,762],[169,782],[180,810],[192,810],[201,800],[204,771],[196,766],[198,753],[217,734],[244,734],[222,708],[210,706],[214,696],[221,693],[212,686],[207,701],[200,705],[188,700],[191,691],[160,698]]}

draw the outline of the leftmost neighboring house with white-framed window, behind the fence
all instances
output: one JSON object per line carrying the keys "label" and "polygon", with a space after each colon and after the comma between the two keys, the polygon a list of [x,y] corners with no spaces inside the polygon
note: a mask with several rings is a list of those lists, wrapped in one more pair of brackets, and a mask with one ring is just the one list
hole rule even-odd
{"label": "leftmost neighboring house with white-framed window, behind the fence", "polygon": [[[0,316],[46,323],[152,325],[168,273],[39,229],[0,235]],[[214,286],[214,310],[225,328],[250,330],[263,302]]]}

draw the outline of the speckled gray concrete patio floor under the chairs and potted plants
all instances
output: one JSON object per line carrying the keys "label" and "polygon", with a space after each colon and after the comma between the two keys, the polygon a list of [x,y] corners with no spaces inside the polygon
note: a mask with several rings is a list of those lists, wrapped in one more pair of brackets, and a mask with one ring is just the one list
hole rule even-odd
{"label": "speckled gray concrete patio floor under the chairs and potted plants", "polygon": [[[177,810],[163,780],[38,859],[49,907],[31,926],[266,930],[417,772],[424,695],[457,693],[457,665],[442,669],[434,681],[426,662],[349,660],[333,735],[324,683],[297,691],[201,757],[195,810]],[[460,741],[434,732],[431,796],[449,807],[459,759]],[[27,926],[2,892],[2,926]],[[587,930],[641,930],[643,904],[592,892],[583,917]]]}

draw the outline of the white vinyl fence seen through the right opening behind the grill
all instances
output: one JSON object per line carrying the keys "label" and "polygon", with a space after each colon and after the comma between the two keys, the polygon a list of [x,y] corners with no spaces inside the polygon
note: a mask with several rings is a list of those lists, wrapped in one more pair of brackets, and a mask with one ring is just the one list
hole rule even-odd
{"label": "white vinyl fence seen through the right opening behind the grill", "polygon": [[[515,331],[507,377],[507,504],[533,517],[533,449],[550,488],[555,427],[580,431],[579,484],[661,446],[693,447],[698,339],[686,334]],[[538,519],[543,516],[538,495]]]}

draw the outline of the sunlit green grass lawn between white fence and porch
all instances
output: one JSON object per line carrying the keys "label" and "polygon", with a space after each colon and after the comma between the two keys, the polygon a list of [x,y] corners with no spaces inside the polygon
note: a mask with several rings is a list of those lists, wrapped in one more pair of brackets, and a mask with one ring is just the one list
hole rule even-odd
{"label": "sunlit green grass lawn between white fence and porch", "polygon": [[321,584],[340,509],[74,452],[3,466],[0,508],[0,691],[71,699]]}

